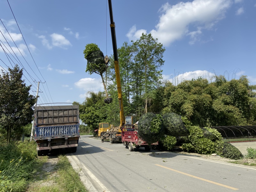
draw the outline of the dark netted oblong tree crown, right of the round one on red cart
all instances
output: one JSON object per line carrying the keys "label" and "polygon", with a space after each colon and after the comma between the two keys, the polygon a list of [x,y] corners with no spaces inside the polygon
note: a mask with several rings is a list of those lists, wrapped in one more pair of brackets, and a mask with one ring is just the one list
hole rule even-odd
{"label": "dark netted oblong tree crown, right of the round one on red cart", "polygon": [[163,115],[163,126],[166,135],[181,137],[188,136],[189,131],[176,113],[165,113]]}

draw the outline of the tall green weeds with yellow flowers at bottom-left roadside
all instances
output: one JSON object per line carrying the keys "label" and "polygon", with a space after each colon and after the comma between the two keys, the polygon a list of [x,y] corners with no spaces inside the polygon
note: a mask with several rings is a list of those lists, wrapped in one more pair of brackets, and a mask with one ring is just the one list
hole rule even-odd
{"label": "tall green weeds with yellow flowers at bottom-left roadside", "polygon": [[36,157],[35,142],[18,142],[0,146],[0,191],[25,191],[33,182],[45,158]]}

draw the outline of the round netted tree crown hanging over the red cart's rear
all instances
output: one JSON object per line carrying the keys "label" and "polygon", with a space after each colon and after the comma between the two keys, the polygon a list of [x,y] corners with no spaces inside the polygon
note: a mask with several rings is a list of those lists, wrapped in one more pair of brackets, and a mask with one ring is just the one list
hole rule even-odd
{"label": "round netted tree crown hanging over the red cart's rear", "polygon": [[164,136],[161,116],[154,113],[146,113],[142,115],[138,123],[138,134],[148,144],[160,140]]}

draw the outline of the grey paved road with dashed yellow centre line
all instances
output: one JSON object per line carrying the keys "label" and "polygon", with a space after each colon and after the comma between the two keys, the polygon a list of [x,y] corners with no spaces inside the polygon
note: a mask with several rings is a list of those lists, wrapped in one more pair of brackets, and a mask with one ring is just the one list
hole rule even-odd
{"label": "grey paved road with dashed yellow centre line", "polygon": [[256,191],[256,169],[250,166],[144,148],[130,152],[122,143],[87,136],[73,155],[92,183],[89,191]]}

